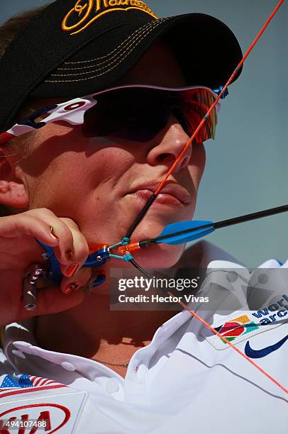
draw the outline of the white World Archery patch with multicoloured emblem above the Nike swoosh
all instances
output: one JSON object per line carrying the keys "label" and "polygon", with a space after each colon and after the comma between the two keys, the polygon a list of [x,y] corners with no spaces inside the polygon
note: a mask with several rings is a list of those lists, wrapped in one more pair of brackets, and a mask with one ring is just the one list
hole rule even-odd
{"label": "white World Archery patch with multicoloured emblem above the Nike swoosh", "polygon": [[[225,318],[225,321],[217,321],[212,327],[226,338],[233,345],[252,338],[257,333],[262,333],[272,328],[282,325],[282,322],[277,321],[274,317],[270,319],[270,322],[263,322],[262,314],[265,311],[246,311],[238,312],[238,316],[233,313],[233,316]],[[268,320],[268,318],[266,318]],[[230,348],[230,345],[221,339],[218,335],[212,335],[211,330],[203,328],[201,335],[216,349],[225,350]]]}

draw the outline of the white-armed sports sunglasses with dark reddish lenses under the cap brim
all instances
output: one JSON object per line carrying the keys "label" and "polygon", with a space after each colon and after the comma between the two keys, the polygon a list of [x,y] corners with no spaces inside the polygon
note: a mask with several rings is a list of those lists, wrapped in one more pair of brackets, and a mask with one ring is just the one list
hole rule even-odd
{"label": "white-armed sports sunglasses with dark reddish lenses under the cap brim", "polygon": [[[216,98],[216,91],[200,86],[181,89],[148,85],[114,87],[33,112],[10,130],[0,133],[0,145],[57,121],[82,125],[82,133],[87,138],[109,136],[143,143],[153,140],[167,126],[171,114],[191,137]],[[206,118],[196,135],[196,143],[215,138],[219,109],[220,104],[217,104]]]}

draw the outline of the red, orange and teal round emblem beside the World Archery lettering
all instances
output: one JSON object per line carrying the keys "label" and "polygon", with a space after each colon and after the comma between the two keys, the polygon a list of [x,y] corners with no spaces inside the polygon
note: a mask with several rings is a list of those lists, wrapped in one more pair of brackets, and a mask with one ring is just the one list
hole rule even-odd
{"label": "red, orange and teal round emblem beside the World Archery lettering", "polygon": [[[243,315],[238,316],[238,318],[234,318],[223,325],[215,327],[215,330],[231,342],[236,338],[239,338],[239,336],[251,333],[258,328],[259,326],[256,325],[254,321],[250,321],[250,318],[248,318],[247,315]],[[223,343],[227,345],[224,340]]]}

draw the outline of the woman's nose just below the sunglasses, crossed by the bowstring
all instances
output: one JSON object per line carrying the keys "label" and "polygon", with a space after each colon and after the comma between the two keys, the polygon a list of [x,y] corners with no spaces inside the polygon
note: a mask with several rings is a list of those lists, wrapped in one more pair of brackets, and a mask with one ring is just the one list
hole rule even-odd
{"label": "woman's nose just below the sunglasses, crossed by the bowstring", "polygon": [[[155,140],[158,140],[157,145],[148,153],[148,163],[152,166],[159,164],[167,165],[167,168],[170,168],[187,144],[189,135],[185,133],[175,115],[171,113],[167,125],[157,135]],[[182,155],[177,167],[175,167],[175,173],[184,169],[189,164],[191,155],[192,145]]]}

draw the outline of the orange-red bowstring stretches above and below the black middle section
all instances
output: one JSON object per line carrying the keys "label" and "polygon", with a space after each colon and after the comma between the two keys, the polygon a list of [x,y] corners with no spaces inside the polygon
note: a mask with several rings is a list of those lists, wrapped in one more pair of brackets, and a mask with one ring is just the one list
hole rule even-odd
{"label": "orange-red bowstring stretches above and below the black middle section", "polygon": [[[189,148],[189,146],[191,145],[191,143],[193,142],[194,138],[196,137],[196,135],[199,133],[199,130],[202,128],[202,126],[204,125],[204,123],[206,122],[206,118],[209,118],[209,115],[211,113],[211,111],[215,108],[216,104],[218,103],[219,99],[221,98],[221,96],[223,95],[223,93],[226,91],[227,87],[229,86],[229,84],[231,84],[233,78],[236,76],[239,68],[243,65],[243,63],[245,62],[245,60],[247,59],[248,55],[250,55],[250,52],[253,50],[253,48],[255,47],[257,41],[260,39],[260,37],[262,36],[262,34],[265,32],[265,29],[267,28],[267,26],[269,25],[270,21],[272,20],[272,18],[275,16],[275,14],[277,13],[279,7],[282,5],[282,3],[284,2],[284,0],[280,0],[279,3],[277,4],[277,6],[275,7],[274,11],[272,11],[272,13],[270,14],[270,17],[267,19],[267,21],[265,22],[264,26],[262,27],[262,29],[260,30],[260,32],[257,34],[255,40],[253,40],[253,43],[250,45],[250,47],[248,48],[248,50],[245,52],[245,55],[243,56],[242,60],[240,61],[239,65],[236,67],[236,69],[233,71],[233,74],[231,75],[231,77],[228,79],[228,82],[225,84],[225,86],[223,87],[223,89],[221,90],[220,94],[218,94],[218,97],[216,98],[216,101],[214,101],[214,103],[211,105],[209,111],[207,111],[206,116],[204,116],[204,118],[202,119],[202,121],[199,123],[199,126],[196,128],[196,130],[194,131],[194,134],[192,135],[192,137],[188,140],[187,144],[184,146],[184,149],[182,150],[182,152],[179,154],[179,156],[177,157],[177,159],[175,160],[175,162],[173,163],[172,167],[170,167],[169,171],[167,172],[165,178],[162,180],[162,182],[160,182],[159,186],[157,187],[156,191],[155,191],[155,196],[157,196],[157,194],[159,194],[159,192],[161,191],[161,189],[164,187],[165,183],[167,182],[167,179],[170,177],[170,174],[172,174],[172,172],[175,170],[175,167],[178,165],[179,160],[181,160],[181,158],[183,157],[183,155],[185,154],[185,152],[187,151],[187,149]],[[172,294],[171,292],[167,292],[167,294],[170,294],[170,296],[174,296],[174,294]],[[262,372],[262,374],[264,374],[267,378],[269,378],[273,383],[275,383],[280,389],[282,389],[285,393],[288,393],[288,389],[286,389],[284,386],[282,386],[282,384],[280,384],[279,382],[277,382],[277,380],[275,378],[273,378],[270,374],[268,374],[264,369],[262,369],[259,365],[257,365],[257,363],[253,362],[253,360],[250,360],[249,357],[247,357],[242,351],[240,351],[235,345],[233,345],[228,339],[224,338],[221,333],[219,333],[217,330],[215,330],[209,323],[207,323],[203,318],[201,318],[201,316],[197,315],[197,313],[195,311],[192,311],[192,309],[190,309],[186,304],[184,304],[182,301],[178,301],[178,303],[184,307],[187,311],[189,311],[192,316],[194,316],[195,318],[197,318],[202,324],[204,324],[207,328],[209,328],[209,330],[211,330],[211,332],[214,333],[214,335],[217,335],[219,338],[221,338],[226,344],[230,345],[231,348],[233,348],[233,350],[236,350],[238,352],[238,354],[240,354],[242,357],[245,358],[245,360],[248,360],[248,362],[253,365],[255,368],[257,368],[260,372]]]}

